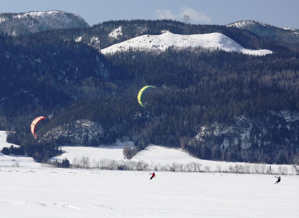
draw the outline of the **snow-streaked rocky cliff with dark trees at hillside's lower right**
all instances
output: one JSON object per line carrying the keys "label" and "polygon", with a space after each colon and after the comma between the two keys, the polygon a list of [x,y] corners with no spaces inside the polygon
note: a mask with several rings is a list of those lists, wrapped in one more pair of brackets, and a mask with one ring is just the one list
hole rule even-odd
{"label": "snow-streaked rocky cliff with dark trees at hillside's lower right", "polygon": [[[203,146],[215,146],[226,151],[243,150],[244,159],[254,152],[264,152],[261,155],[265,157],[261,160],[276,158],[278,161],[288,159],[299,151],[298,133],[298,112],[269,111],[251,120],[236,116],[229,125],[215,122],[201,126],[195,141]],[[274,157],[274,154],[277,156]]]}

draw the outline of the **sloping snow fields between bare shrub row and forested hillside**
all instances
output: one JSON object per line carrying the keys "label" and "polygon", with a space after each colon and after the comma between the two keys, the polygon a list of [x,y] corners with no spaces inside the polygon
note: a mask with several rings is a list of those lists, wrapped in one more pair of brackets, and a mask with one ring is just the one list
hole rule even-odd
{"label": "sloping snow fields between bare shrub row and forested hillside", "polygon": [[[6,142],[7,133],[5,131],[0,131],[0,148],[10,147],[10,143]],[[121,142],[117,141],[115,144],[110,146],[99,146],[99,147],[71,147],[62,146],[61,149],[64,151],[62,155],[50,158],[49,161],[53,160],[63,160],[63,158],[68,158],[72,163],[74,158],[89,157],[89,160],[100,161],[104,158],[109,158],[113,160],[125,160],[123,155],[124,147],[133,147],[132,141]],[[13,161],[13,159],[15,161]],[[248,163],[237,163],[237,162],[225,162],[225,161],[209,161],[202,160],[199,158],[194,158],[188,153],[182,151],[181,149],[166,148],[157,145],[149,145],[145,150],[140,151],[132,158],[133,161],[147,161],[149,164],[156,164],[158,166],[167,165],[172,163],[178,164],[188,164],[190,162],[196,162],[202,164],[202,167],[208,166],[210,171],[218,171],[219,166],[221,171],[229,171],[229,167],[234,167],[236,164],[242,166],[250,165],[250,173],[255,173],[257,170],[259,173],[266,173],[266,170],[270,167],[269,164],[248,164]],[[33,158],[28,156],[15,156],[15,155],[3,155],[0,153],[0,165],[1,166],[12,166],[16,162],[19,162],[20,167],[40,167],[39,163],[36,163]],[[262,167],[264,167],[262,169]],[[286,174],[295,174],[292,165],[271,165],[271,172],[280,174],[279,167],[286,168]]]}

